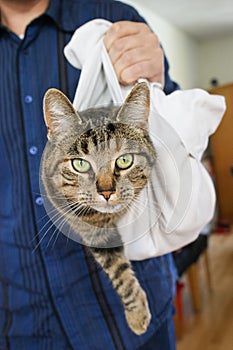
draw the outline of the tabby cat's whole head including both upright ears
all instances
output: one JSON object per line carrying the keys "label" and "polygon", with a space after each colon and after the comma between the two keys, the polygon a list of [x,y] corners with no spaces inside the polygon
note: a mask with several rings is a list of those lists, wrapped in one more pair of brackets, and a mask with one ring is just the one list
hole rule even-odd
{"label": "tabby cat's whole head including both upright ears", "polygon": [[108,214],[126,210],[146,185],[155,160],[149,105],[146,83],[137,84],[121,107],[80,113],[62,92],[49,89],[44,116],[50,151],[43,160],[43,181],[50,182],[51,197],[64,196],[74,208],[86,208],[84,215],[89,208]]}

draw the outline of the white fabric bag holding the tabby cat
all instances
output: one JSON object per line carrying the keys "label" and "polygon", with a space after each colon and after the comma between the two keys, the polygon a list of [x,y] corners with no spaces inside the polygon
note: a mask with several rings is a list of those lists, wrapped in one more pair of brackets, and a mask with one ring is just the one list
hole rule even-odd
{"label": "white fabric bag holding the tabby cat", "polygon": [[[122,104],[132,88],[119,85],[103,44],[110,26],[106,20],[93,20],[79,28],[65,48],[69,62],[82,69],[73,101],[78,111],[110,101]],[[222,96],[201,89],[166,96],[158,84],[149,86],[149,131],[157,161],[137,211],[127,213],[118,223],[131,260],[188,244],[212,218],[215,191],[200,159],[225,111]]]}

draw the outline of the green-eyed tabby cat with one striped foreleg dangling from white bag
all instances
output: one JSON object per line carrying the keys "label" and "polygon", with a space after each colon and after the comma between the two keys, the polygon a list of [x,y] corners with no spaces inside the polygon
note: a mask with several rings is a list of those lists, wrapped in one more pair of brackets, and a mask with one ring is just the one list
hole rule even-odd
{"label": "green-eyed tabby cat with one striped foreleg dangling from white bag", "polygon": [[116,222],[137,200],[155,161],[148,135],[149,106],[144,82],[120,107],[77,113],[59,90],[49,89],[44,97],[45,194],[76,235],[74,239],[88,246],[108,275],[137,335],[146,332],[151,315],[146,294],[124,255]]}

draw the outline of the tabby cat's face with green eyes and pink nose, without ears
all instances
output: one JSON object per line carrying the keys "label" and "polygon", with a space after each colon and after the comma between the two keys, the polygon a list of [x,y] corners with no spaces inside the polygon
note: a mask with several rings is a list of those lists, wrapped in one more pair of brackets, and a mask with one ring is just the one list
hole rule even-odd
{"label": "tabby cat's face with green eyes and pink nose, without ears", "polygon": [[128,127],[125,137],[123,129],[119,123],[114,133],[108,125],[98,127],[72,144],[61,167],[62,191],[69,201],[114,213],[136,198],[150,176],[153,158],[141,132]]}

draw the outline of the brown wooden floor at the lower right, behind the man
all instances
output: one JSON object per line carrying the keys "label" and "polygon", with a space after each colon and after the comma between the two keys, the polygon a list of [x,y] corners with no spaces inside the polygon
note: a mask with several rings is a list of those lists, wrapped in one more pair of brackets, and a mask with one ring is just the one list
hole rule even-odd
{"label": "brown wooden floor at the lower right, behind the man", "polygon": [[202,306],[198,313],[192,310],[187,280],[182,278],[183,334],[177,350],[233,350],[233,231],[212,234],[208,252],[212,291],[207,288],[201,259]]}

